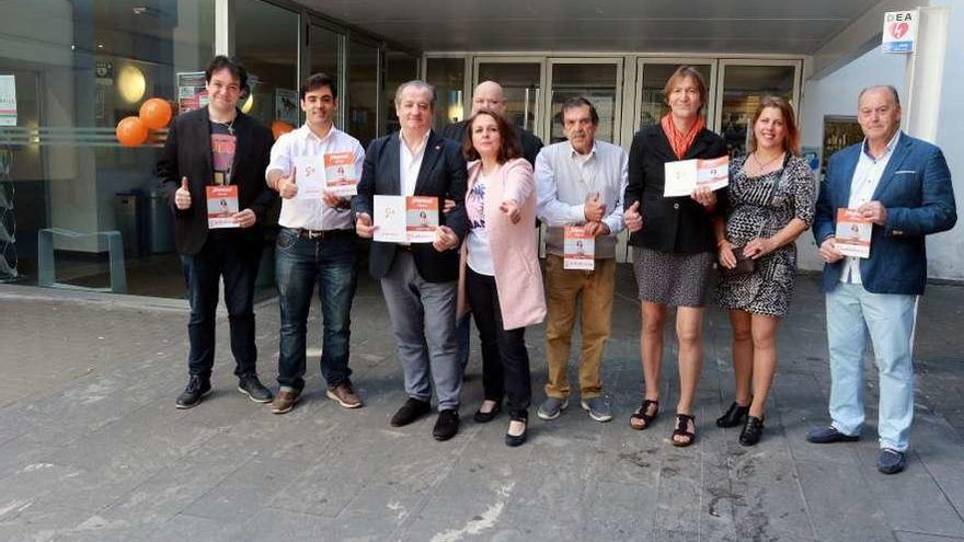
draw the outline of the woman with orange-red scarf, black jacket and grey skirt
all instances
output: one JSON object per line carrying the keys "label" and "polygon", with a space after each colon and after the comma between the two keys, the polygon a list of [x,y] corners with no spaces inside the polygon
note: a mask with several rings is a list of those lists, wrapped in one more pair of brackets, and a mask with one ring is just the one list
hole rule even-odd
{"label": "woman with orange-red scarf, black jacket and grey skirt", "polygon": [[664,197],[665,168],[679,160],[725,155],[726,143],[703,123],[708,91],[696,68],[679,67],[666,81],[665,92],[669,114],[633,138],[623,198],[642,301],[640,357],[645,381],[642,405],[630,425],[645,429],[659,412],[663,330],[668,309],[675,307],[679,400],[670,442],[685,447],[696,439],[692,403],[703,366],[703,309],[716,252],[713,220],[718,194],[722,199],[726,191],[700,187],[690,196]]}

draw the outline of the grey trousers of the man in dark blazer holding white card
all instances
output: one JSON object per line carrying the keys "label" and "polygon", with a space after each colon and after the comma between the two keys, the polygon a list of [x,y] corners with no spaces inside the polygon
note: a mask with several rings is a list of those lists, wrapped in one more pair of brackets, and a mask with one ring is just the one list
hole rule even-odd
{"label": "grey trousers of the man in dark blazer holding white card", "polygon": [[428,282],[418,275],[412,253],[399,251],[381,291],[388,305],[399,360],[405,374],[405,393],[431,402],[438,410],[458,410],[462,367],[456,341],[458,282]]}

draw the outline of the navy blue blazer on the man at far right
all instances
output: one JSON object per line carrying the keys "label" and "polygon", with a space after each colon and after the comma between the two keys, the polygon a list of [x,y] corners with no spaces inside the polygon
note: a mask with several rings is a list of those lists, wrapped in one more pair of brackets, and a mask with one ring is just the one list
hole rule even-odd
{"label": "navy blue blazer on the man at far right", "polygon": [[[836,234],[837,209],[850,200],[862,149],[861,142],[830,157],[814,217],[817,245]],[[951,171],[941,150],[902,132],[871,199],[887,209],[887,221],[873,226],[870,257],[860,262],[863,287],[874,293],[923,293],[925,235],[950,230],[957,221]],[[824,265],[824,291],[837,287],[844,263]]]}

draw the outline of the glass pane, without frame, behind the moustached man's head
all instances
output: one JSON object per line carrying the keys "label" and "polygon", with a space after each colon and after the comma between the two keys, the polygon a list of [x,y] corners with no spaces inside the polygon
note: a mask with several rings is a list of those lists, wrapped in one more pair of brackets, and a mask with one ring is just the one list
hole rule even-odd
{"label": "glass pane, without frame, behind the moustached man's head", "polygon": [[551,142],[565,139],[562,132],[562,104],[583,96],[596,107],[599,126],[596,139],[616,140],[616,92],[619,73],[615,64],[556,64],[552,66]]}

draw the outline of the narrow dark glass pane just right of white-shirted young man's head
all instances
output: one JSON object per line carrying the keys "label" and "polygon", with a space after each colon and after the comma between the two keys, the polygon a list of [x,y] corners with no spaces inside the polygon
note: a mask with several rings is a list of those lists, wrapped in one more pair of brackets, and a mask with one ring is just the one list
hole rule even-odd
{"label": "narrow dark glass pane just right of white-shirted young man's head", "polygon": [[378,135],[378,48],[348,45],[347,132],[368,148]]}

